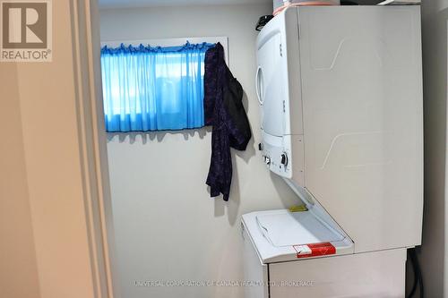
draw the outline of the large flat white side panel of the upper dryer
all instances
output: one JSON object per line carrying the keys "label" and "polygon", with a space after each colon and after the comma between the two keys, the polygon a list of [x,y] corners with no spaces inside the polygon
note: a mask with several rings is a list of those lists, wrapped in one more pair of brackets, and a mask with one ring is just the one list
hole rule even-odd
{"label": "large flat white side panel of the upper dryer", "polygon": [[298,14],[306,189],[355,251],[420,244],[419,7],[303,7]]}

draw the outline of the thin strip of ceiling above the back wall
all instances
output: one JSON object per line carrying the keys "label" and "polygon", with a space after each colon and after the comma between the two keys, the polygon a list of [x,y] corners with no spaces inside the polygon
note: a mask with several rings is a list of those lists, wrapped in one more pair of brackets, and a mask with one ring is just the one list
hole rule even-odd
{"label": "thin strip of ceiling above the back wall", "polygon": [[271,3],[272,0],[99,0],[99,8]]}

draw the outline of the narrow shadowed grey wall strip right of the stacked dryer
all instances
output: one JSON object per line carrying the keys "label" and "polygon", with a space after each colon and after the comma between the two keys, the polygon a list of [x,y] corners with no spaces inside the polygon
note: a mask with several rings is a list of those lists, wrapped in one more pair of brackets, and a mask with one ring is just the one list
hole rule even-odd
{"label": "narrow shadowed grey wall strip right of the stacked dryer", "polygon": [[448,297],[446,99],[448,0],[424,0],[425,213],[420,263],[426,297]]}

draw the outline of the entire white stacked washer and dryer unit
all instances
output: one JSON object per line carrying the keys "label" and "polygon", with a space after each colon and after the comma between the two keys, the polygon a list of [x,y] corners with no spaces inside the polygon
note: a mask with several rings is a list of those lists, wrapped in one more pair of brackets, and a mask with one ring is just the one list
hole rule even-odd
{"label": "entire white stacked washer and dryer unit", "polygon": [[263,161],[306,209],[243,216],[247,298],[404,297],[421,243],[419,6],[289,7],[257,38]]}

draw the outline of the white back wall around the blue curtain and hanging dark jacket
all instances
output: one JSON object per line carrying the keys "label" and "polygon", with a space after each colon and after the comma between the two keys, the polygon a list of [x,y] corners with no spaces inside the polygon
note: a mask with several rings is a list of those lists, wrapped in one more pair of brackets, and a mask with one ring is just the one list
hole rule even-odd
{"label": "white back wall around the blue curtain and hanging dark jacket", "polygon": [[254,26],[271,4],[159,7],[100,12],[101,40],[227,36],[230,69],[246,91],[254,139],[235,152],[228,203],[211,199],[205,179],[210,130],[109,137],[116,254],[124,298],[243,297],[238,287],[136,287],[144,280],[241,280],[240,216],[297,202],[270,175],[260,141],[254,91]]}

